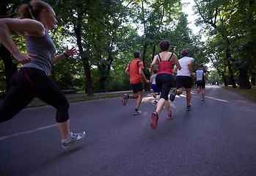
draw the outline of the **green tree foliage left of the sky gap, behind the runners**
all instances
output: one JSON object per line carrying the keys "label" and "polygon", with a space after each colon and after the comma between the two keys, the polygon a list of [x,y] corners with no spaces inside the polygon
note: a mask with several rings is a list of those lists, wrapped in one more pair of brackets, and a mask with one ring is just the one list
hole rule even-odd
{"label": "green tree foliage left of the sky gap, behind the runners", "polygon": [[[45,1],[54,8],[59,22],[57,29],[50,32],[56,55],[62,54],[66,45],[78,50],[76,56],[52,67],[51,77],[61,89],[87,89],[87,69],[95,92],[131,89],[124,70],[134,59],[134,51],[141,51],[149,76],[147,70],[153,56],[160,52],[158,43],[165,39],[170,40],[170,51],[178,57],[183,48],[191,49],[194,70],[199,63],[208,63],[204,43],[200,42],[200,36],[191,33],[187,16],[180,12],[180,0]],[[18,9],[16,4],[10,7]],[[23,38],[15,35],[14,38],[25,51]]]}

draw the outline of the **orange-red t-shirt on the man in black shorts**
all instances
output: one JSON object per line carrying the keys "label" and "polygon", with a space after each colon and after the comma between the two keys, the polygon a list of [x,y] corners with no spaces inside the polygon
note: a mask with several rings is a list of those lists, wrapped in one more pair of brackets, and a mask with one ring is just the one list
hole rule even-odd
{"label": "orange-red t-shirt on the man in black shorts", "polygon": [[144,68],[143,62],[140,61],[138,64],[137,62],[140,61],[139,59],[134,59],[129,65],[128,69],[130,71],[130,83],[131,84],[138,84],[142,82],[142,76],[139,74],[139,68]]}

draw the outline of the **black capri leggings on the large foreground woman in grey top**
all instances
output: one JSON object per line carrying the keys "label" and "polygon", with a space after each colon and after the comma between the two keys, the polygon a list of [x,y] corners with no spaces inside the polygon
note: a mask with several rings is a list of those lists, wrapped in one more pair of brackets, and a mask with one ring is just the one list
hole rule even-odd
{"label": "black capri leggings on the large foreground woman in grey top", "polygon": [[62,90],[43,70],[23,67],[12,76],[12,87],[0,107],[0,122],[10,120],[35,97],[56,109],[56,122],[69,120],[69,103]]}

